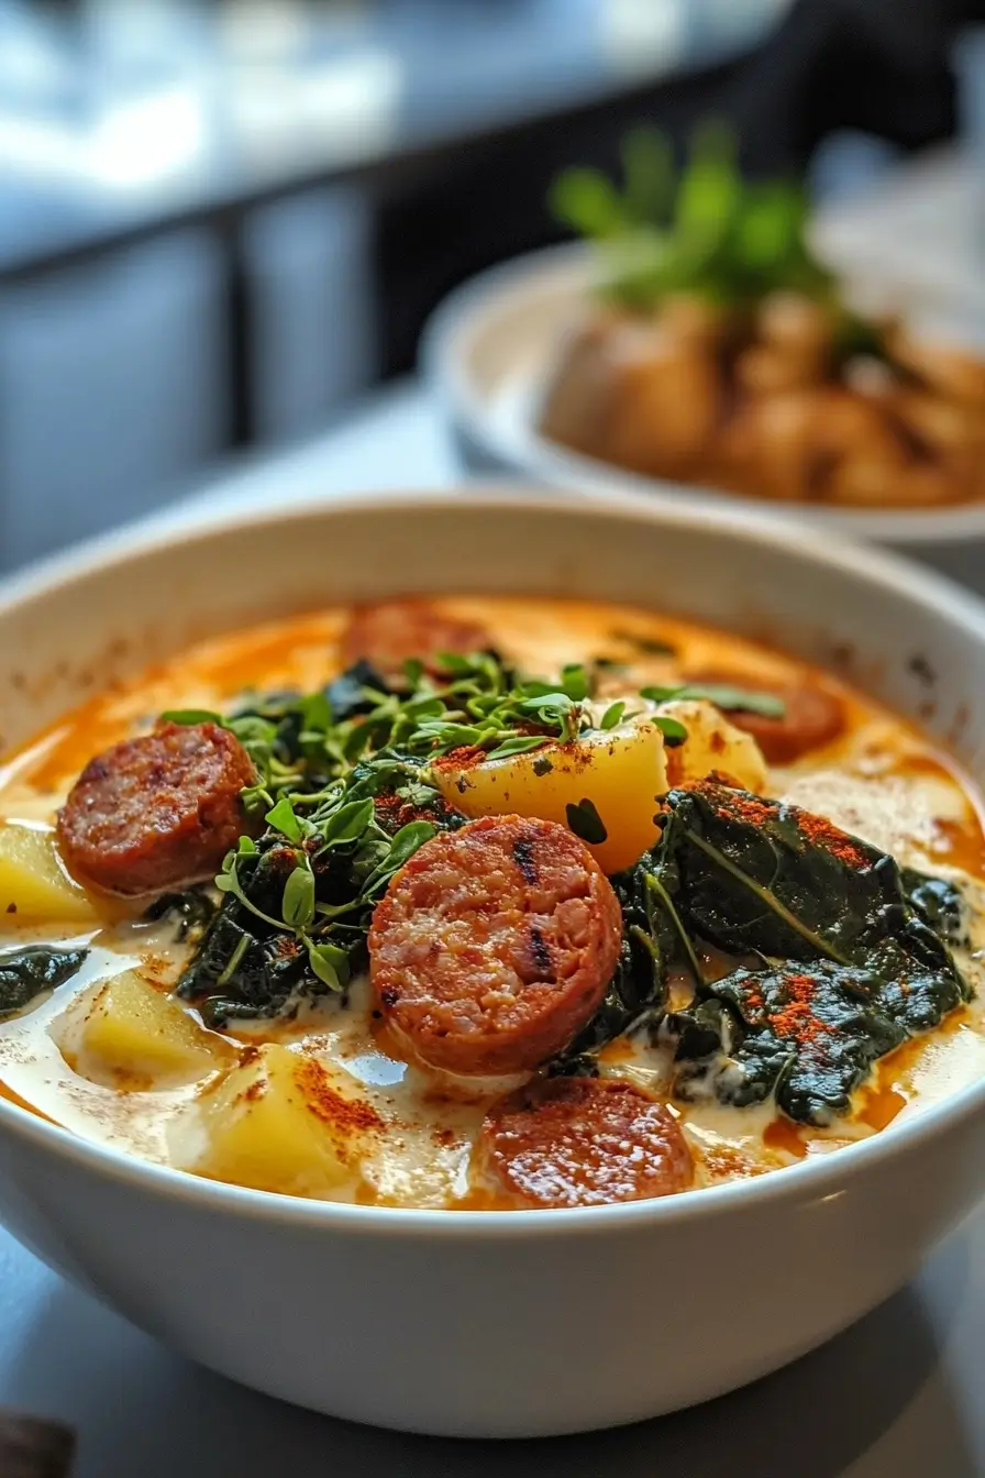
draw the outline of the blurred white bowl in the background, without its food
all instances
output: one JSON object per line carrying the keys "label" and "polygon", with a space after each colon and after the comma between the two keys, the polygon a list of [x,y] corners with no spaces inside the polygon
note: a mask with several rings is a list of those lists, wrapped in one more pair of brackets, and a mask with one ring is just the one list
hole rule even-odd
{"label": "blurred white bowl in the background, without its food", "polygon": [[583,312],[592,279],[586,247],[552,247],[473,278],[431,316],[421,341],[421,364],[470,471],[507,473],[598,495],[673,491],[681,501],[719,508],[741,501],[800,526],[888,544],[985,591],[985,503],[880,513],[737,500],[712,488],[625,471],[540,436],[538,414],[558,347]]}

